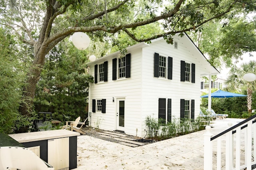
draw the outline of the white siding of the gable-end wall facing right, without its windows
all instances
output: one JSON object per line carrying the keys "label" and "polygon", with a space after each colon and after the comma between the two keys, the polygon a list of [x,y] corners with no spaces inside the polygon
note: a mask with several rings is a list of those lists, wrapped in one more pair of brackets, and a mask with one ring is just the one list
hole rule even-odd
{"label": "white siding of the gable-end wall facing right, without its windows", "polygon": [[[200,67],[198,60],[180,39],[182,38],[174,38],[174,41],[178,42],[178,49],[174,49],[174,44],[166,44],[165,40],[160,40],[153,42],[150,47],[144,47],[142,50],[142,120],[145,120],[148,115],[158,118],[159,98],[166,99],[166,107],[168,99],[172,99],[172,117],[175,118],[180,118],[180,99],[190,101],[194,99],[195,118],[199,115]],[[172,57],[172,80],[154,77],[154,53],[159,53],[164,57]],[[181,60],[195,64],[196,83],[180,81]],[[144,124],[142,124],[143,128],[145,128]]]}

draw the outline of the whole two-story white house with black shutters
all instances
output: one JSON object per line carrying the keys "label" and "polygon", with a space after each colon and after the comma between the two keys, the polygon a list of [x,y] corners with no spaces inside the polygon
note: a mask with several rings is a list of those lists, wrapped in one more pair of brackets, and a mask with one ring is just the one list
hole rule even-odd
{"label": "whole two-story white house with black shutters", "polygon": [[218,74],[185,34],[150,44],[138,43],[87,63],[89,125],[144,137],[147,116],[171,121],[196,119],[200,111],[200,77]]}

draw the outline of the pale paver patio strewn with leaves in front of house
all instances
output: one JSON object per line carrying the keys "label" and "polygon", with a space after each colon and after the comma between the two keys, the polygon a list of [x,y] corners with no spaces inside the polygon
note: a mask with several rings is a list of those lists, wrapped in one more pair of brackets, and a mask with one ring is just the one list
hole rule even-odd
{"label": "pale paver patio strewn with leaves in front of house", "polygon": [[[216,135],[244,119],[216,119],[211,133]],[[130,147],[122,144],[78,136],[75,170],[203,170],[205,130],[152,144]]]}

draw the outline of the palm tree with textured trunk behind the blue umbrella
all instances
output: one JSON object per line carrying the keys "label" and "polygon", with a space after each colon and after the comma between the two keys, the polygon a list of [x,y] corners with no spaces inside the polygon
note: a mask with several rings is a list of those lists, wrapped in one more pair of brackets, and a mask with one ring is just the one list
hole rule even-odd
{"label": "palm tree with textured trunk behind the blue umbrella", "polygon": [[230,69],[228,79],[226,81],[229,91],[247,89],[247,108],[248,113],[252,113],[252,91],[256,89],[256,81],[245,81],[243,76],[247,73],[256,74],[256,61],[242,63],[240,68],[233,67]]}

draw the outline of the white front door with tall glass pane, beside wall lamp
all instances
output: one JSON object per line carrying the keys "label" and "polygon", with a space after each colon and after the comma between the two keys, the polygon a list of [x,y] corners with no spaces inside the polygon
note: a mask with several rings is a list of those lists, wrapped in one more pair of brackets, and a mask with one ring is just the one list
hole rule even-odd
{"label": "white front door with tall glass pane, beside wall lamp", "polygon": [[117,109],[116,109],[116,130],[124,131],[124,98],[117,99]]}

